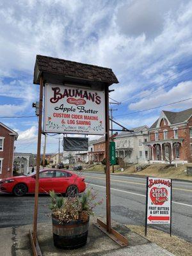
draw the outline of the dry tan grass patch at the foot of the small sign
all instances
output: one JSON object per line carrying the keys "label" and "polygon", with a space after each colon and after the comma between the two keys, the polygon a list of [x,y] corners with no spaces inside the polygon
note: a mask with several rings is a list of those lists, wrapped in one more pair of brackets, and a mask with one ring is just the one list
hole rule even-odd
{"label": "dry tan grass patch at the foot of the small sign", "polygon": [[[127,225],[133,232],[145,237],[145,227],[136,225]],[[152,243],[168,250],[176,256],[192,255],[192,244],[177,236],[171,236],[163,231],[147,228],[147,239]]]}

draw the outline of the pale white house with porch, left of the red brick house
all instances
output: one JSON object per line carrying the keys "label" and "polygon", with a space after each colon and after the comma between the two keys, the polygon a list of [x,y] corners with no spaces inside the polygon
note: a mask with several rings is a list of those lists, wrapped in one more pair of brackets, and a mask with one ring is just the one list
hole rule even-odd
{"label": "pale white house with porch, left of the red brick house", "polygon": [[121,157],[125,163],[147,163],[149,148],[143,143],[148,141],[148,126],[135,127],[131,131],[120,132],[115,137],[116,157]]}

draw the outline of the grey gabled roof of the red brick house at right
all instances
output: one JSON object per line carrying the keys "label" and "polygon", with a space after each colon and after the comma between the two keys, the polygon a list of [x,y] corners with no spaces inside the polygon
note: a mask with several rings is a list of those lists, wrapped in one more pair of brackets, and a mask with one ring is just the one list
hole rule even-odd
{"label": "grey gabled roof of the red brick house at right", "polygon": [[[162,112],[164,113],[166,118],[168,118],[170,124],[179,124],[187,121],[191,117],[192,108],[189,108],[180,112],[172,112],[172,111],[165,111],[165,110],[163,110]],[[154,124],[152,124],[150,129],[156,128],[159,118],[156,120],[156,122],[154,122]]]}

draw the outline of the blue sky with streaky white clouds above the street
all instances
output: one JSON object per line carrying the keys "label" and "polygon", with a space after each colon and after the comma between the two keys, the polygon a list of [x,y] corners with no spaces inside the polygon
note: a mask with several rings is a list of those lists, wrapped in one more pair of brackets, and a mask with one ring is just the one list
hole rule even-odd
{"label": "blue sky with streaky white clouds above the street", "polygon": [[[114,118],[128,128],[192,107],[128,115],[192,97],[192,1],[3,0],[0,25],[0,122],[19,132],[17,152],[36,152],[37,118],[12,118],[35,114],[36,54],[112,68],[120,83],[110,96],[122,102]],[[56,138],[47,152],[58,149]]]}

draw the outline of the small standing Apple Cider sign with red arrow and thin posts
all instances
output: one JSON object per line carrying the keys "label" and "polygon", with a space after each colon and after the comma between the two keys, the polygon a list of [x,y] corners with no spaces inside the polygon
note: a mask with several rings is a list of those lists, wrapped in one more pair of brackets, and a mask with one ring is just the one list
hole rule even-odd
{"label": "small standing Apple Cider sign with red arrow and thin posts", "polygon": [[172,179],[147,177],[145,236],[148,224],[170,224],[172,235]]}

